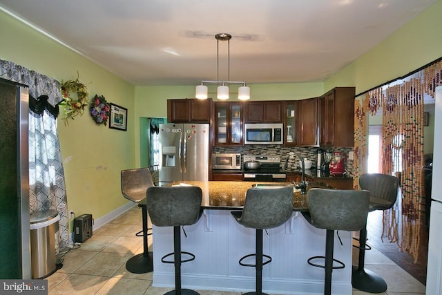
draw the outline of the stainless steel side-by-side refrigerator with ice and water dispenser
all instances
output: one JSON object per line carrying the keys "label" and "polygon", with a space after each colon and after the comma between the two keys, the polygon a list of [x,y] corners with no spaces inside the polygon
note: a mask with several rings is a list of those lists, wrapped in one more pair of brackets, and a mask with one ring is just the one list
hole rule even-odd
{"label": "stainless steel side-by-side refrigerator with ice and water dispenser", "polygon": [[160,124],[160,186],[209,180],[209,124]]}

